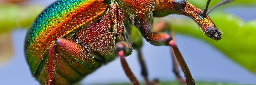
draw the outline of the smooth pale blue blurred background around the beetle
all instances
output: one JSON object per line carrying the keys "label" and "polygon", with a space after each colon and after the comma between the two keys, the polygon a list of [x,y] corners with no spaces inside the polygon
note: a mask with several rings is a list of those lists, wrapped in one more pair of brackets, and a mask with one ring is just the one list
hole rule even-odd
{"label": "smooth pale blue blurred background around the beetle", "polygon": [[[31,1],[30,3],[49,5],[53,1]],[[234,7],[224,11],[240,17],[244,21],[256,19],[256,8]],[[171,15],[169,17],[180,17]],[[171,19],[171,18],[170,18]],[[14,54],[11,61],[0,65],[0,85],[38,85],[32,77],[26,63],[23,45],[27,29],[12,32]],[[241,83],[256,85],[256,76],[232,62],[209,44],[184,35],[175,34],[177,45],[186,60],[187,65],[196,81]],[[172,59],[170,48],[167,46],[153,46],[143,40],[143,56],[147,64],[149,78],[158,78],[160,81],[175,80],[172,73]],[[136,77],[143,81],[140,75],[140,65],[137,52],[126,57],[128,64]],[[181,75],[182,72],[181,72]],[[125,76],[119,59],[102,66],[93,74],[81,81],[82,85],[105,84],[115,82],[129,82]]]}

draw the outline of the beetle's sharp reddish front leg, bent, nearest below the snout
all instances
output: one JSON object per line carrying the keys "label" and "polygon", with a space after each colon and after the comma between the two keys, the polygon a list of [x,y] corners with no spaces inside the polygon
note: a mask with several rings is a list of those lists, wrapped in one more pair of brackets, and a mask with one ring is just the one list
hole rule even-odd
{"label": "beetle's sharp reddish front leg, bent, nearest below the snout", "polygon": [[192,78],[192,75],[189,71],[188,66],[186,65],[185,60],[183,59],[180,51],[175,44],[175,41],[168,34],[157,33],[151,31],[151,21],[139,19],[138,17],[135,20],[135,26],[139,29],[142,36],[152,45],[170,45],[175,53],[180,67],[185,75],[187,85],[195,85],[195,80]]}

